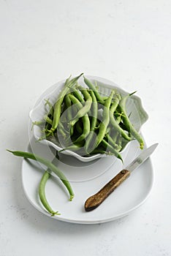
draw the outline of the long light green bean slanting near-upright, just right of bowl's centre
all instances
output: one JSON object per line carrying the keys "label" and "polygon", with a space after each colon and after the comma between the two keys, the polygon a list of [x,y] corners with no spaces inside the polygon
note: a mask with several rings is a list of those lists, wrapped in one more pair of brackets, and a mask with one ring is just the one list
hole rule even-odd
{"label": "long light green bean slanting near-upright, just right of bowl's centre", "polygon": [[95,147],[98,146],[99,143],[101,143],[101,141],[104,138],[104,135],[106,133],[107,125],[109,124],[109,121],[110,121],[109,112],[110,112],[110,104],[111,104],[111,101],[113,99],[113,94],[114,94],[114,91],[112,91],[110,93],[110,97],[108,97],[108,99],[106,99],[105,102],[104,102],[104,110],[103,110],[103,114],[102,114],[102,121],[99,124],[99,133],[96,136]]}

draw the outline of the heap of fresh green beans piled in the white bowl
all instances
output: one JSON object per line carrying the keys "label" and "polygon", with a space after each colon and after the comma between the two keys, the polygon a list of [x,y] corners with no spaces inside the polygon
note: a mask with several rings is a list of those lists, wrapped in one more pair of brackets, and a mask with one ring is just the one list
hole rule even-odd
{"label": "heap of fresh green beans piled in the white bowl", "polygon": [[126,100],[132,94],[123,96],[111,89],[110,95],[104,96],[86,77],[84,86],[80,86],[82,75],[66,79],[54,105],[46,100],[47,114],[42,121],[34,122],[45,134],[39,140],[46,138],[62,151],[75,151],[84,157],[110,154],[121,161],[120,152],[130,140],[137,140],[142,149],[144,142],[126,111]]}

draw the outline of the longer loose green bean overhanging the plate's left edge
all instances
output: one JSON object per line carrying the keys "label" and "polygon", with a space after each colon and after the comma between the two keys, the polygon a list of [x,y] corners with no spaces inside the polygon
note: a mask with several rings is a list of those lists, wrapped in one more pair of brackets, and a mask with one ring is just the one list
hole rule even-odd
{"label": "longer loose green bean overhanging the plate's left edge", "polygon": [[69,200],[72,200],[72,198],[74,197],[74,192],[72,191],[72,187],[69,183],[69,181],[67,180],[66,176],[64,176],[64,173],[61,172],[61,170],[58,169],[58,167],[56,167],[55,165],[53,165],[52,162],[50,162],[49,160],[39,157],[37,154],[32,154],[30,152],[24,152],[24,151],[10,151],[7,149],[7,151],[11,152],[12,154],[14,154],[17,157],[24,157],[24,158],[28,158],[28,159],[33,159],[37,162],[41,162],[43,165],[47,166],[51,171],[53,171],[53,173],[55,173],[58,178],[61,179],[61,181],[63,182],[64,186],[66,187],[66,189],[69,192]]}

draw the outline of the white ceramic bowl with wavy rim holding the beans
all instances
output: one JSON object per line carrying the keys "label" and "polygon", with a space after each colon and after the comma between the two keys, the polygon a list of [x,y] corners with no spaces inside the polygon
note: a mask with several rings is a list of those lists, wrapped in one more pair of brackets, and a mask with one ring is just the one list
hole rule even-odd
{"label": "white ceramic bowl with wavy rim holding the beans", "polygon": [[[107,95],[107,96],[110,94],[111,89],[117,90],[122,95],[126,95],[126,94],[129,94],[132,92],[132,91],[126,92],[123,89],[121,89],[119,86],[117,86],[115,83],[113,83],[112,81],[106,80],[104,78],[99,78],[99,77],[89,76],[89,75],[86,75],[86,78],[91,80],[91,82],[93,82],[93,83],[96,82],[97,85],[99,86],[100,93]],[[31,118],[31,123],[34,121],[42,120],[43,116],[45,116],[45,113],[46,113],[45,99],[49,99],[50,102],[52,104],[54,104],[56,102],[59,92],[61,91],[61,89],[64,86],[64,82],[65,82],[65,80],[62,80],[62,81],[56,83],[55,85],[53,85],[49,89],[47,89],[42,94],[41,97],[39,97],[36,105],[29,113],[29,116]],[[85,86],[85,83],[83,82],[83,78],[79,79],[79,84],[82,86]],[[129,97],[126,101],[126,110],[127,110],[128,114],[131,113],[130,121],[132,121],[132,124],[134,125],[135,129],[137,129],[137,131],[140,132],[140,128],[142,127],[142,124],[144,124],[145,121],[147,121],[147,119],[148,119],[148,114],[142,108],[142,102],[141,102],[140,97],[137,97],[136,95],[132,95],[132,97]],[[39,138],[42,137],[42,132],[41,132],[41,129],[39,126],[34,126],[33,133],[34,133],[34,138],[36,140],[39,140]],[[56,149],[56,151],[61,151],[61,149],[63,149],[60,146],[57,146],[55,143],[53,143],[50,140],[39,140],[39,143],[43,143],[46,146],[47,145],[52,146],[53,148]],[[121,156],[126,154],[126,151],[128,151],[130,143],[131,142],[127,143],[126,147],[123,148],[123,150],[120,152]],[[83,156],[80,156],[79,154],[77,154],[73,151],[69,151],[69,150],[61,151],[61,153],[70,155],[72,157],[76,157],[77,159],[79,159],[82,162],[90,162],[94,159],[98,159],[99,157],[106,157],[106,155],[104,155],[104,154],[95,154],[90,157],[83,157]]]}

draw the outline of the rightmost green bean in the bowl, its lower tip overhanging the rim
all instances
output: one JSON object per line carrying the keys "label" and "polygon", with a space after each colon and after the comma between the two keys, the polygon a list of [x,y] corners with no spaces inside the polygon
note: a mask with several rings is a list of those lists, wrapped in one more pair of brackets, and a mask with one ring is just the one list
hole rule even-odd
{"label": "rightmost green bean in the bowl, its lower tip overhanging the rim", "polygon": [[[134,94],[134,93],[135,93],[135,91],[132,94]],[[129,117],[127,116],[127,113],[126,113],[126,99],[128,99],[128,97],[130,97],[132,94],[129,94],[129,95],[126,95],[126,97],[123,97],[121,99],[121,102],[119,103],[119,107],[121,108],[121,111],[123,112],[123,116],[122,116],[123,123],[125,124],[126,128],[129,130],[131,135],[134,138],[136,138],[136,140],[140,143],[140,148],[143,149],[144,141],[142,140],[140,134],[137,132],[137,130],[132,125],[131,121],[129,121]]]}

